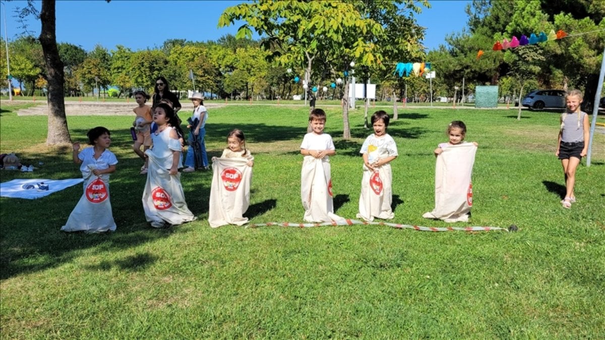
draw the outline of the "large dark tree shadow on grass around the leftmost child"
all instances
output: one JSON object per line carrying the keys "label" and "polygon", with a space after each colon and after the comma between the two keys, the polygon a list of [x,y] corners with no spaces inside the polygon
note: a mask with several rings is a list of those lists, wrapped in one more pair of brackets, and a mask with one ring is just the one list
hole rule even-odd
{"label": "large dark tree shadow on grass around the leftmost child", "polygon": [[[51,149],[45,154],[25,154],[24,159],[35,159],[34,172],[2,172],[2,181],[14,178],[80,178],[79,166],[66,161],[69,146]],[[59,151],[54,152],[53,151]],[[38,165],[37,161],[44,165]],[[94,249],[99,253],[137,247],[161,238],[169,237],[175,229],[157,230],[145,221],[141,197],[146,177],[139,175],[142,160],[132,157],[120,158],[120,167],[110,179],[111,204],[116,232],[84,234],[83,232],[60,232],[68,216],[82,196],[82,184],[54,192],[38,200],[0,198],[1,244],[0,278],[5,280],[27,272],[38,272],[69,263],[79,257],[80,250]],[[205,186],[204,186],[205,187]],[[209,190],[209,188],[204,188]],[[188,203],[202,198],[187,195]],[[201,207],[208,209],[207,201]],[[197,208],[197,206],[195,207]],[[198,209],[193,209],[198,215]],[[132,261],[131,261],[132,260]],[[128,268],[128,262],[152,263],[153,258],[128,258],[112,266]],[[136,264],[138,263],[138,264]]]}

